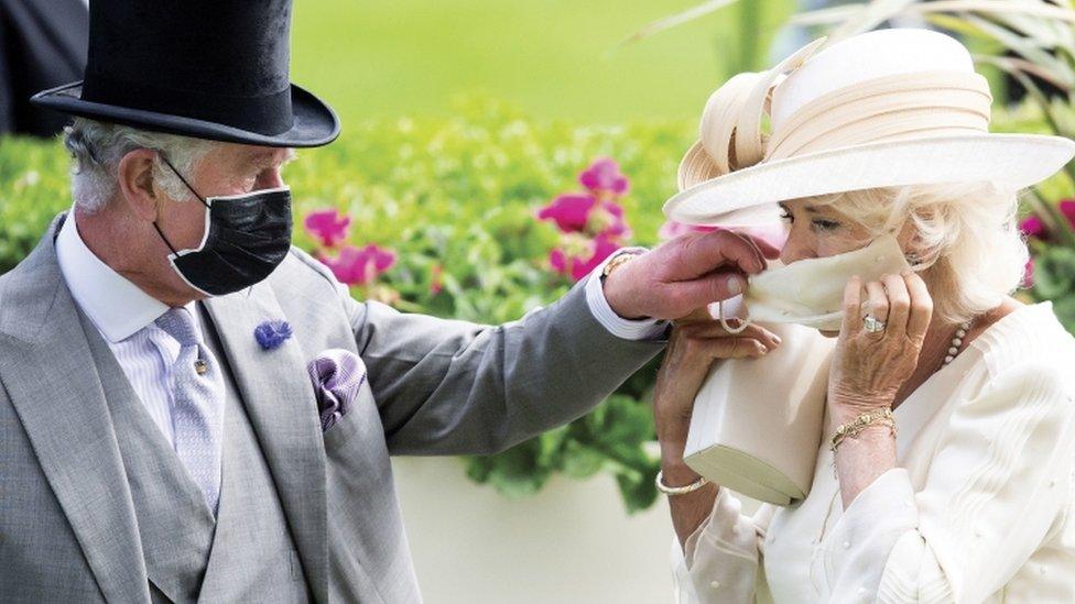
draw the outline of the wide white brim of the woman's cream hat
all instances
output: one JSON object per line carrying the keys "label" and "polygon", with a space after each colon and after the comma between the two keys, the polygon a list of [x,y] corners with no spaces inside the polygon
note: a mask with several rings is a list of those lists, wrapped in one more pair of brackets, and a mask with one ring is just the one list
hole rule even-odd
{"label": "wide white brim of the woman's cream hat", "polygon": [[[697,145],[696,145],[697,146]],[[697,150],[685,160],[704,177]],[[760,163],[680,191],[664,215],[687,224],[739,224],[760,206],[850,190],[947,183],[1021,189],[1049,178],[1075,155],[1075,142],[1041,134],[967,134],[869,143]],[[681,167],[681,182],[685,175]],[[689,176],[686,180],[692,180]]]}

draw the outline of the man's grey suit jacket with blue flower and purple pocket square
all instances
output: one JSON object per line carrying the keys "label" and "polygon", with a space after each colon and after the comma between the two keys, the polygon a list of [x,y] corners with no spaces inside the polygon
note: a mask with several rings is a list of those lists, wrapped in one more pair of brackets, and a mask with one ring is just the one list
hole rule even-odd
{"label": "man's grey suit jacket with blue flower and purple pocket square", "polygon": [[[63,220],[0,276],[0,600],[148,602],[115,388],[56,262]],[[205,306],[318,602],[420,600],[389,455],[500,451],[582,416],[664,345],[608,333],[582,284],[481,326],[356,301],[298,250]],[[253,331],[269,319],[294,337],[265,351]],[[305,367],[330,348],[358,353],[369,386],[323,433]]]}

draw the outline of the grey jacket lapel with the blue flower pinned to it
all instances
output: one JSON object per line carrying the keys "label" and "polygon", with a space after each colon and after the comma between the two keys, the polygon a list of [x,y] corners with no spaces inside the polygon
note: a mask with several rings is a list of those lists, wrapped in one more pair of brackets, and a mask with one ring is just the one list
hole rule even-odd
{"label": "grey jacket lapel with the blue flower pinned to it", "polygon": [[294,338],[273,350],[262,350],[254,339],[258,325],[284,318],[264,283],[204,304],[276,483],[311,591],[327,602],[325,450],[303,351]]}

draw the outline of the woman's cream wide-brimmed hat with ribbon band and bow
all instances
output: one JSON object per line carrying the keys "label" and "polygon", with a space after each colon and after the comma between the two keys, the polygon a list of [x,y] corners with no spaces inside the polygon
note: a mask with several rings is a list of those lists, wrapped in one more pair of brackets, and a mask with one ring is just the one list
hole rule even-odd
{"label": "woman's cream wide-brimmed hat with ribbon band and bow", "polygon": [[775,219],[777,201],[849,190],[979,182],[1021,189],[1075,155],[1065,138],[989,133],[988,83],[948,35],[880,30],[818,51],[824,42],[713,94],[665,216],[749,226]]}

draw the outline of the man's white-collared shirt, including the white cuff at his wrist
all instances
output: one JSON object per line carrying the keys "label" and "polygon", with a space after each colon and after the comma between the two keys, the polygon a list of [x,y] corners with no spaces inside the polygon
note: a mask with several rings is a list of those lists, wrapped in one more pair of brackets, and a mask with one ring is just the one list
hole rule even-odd
{"label": "man's white-collared shirt, including the white cuff at his wrist", "polygon": [[[167,311],[167,305],[153,298],[100,261],[86,246],[75,223],[75,211],[56,238],[59,270],[72,297],[97,327],[127,374],[135,394],[161,431],[174,447],[171,367],[180,354],[180,344],[153,321]],[[586,301],[594,317],[615,336],[631,340],[654,339],[663,334],[666,321],[628,320],[612,311],[605,298],[600,273],[616,254],[595,268],[586,278]],[[187,305],[205,342],[195,303]]]}

